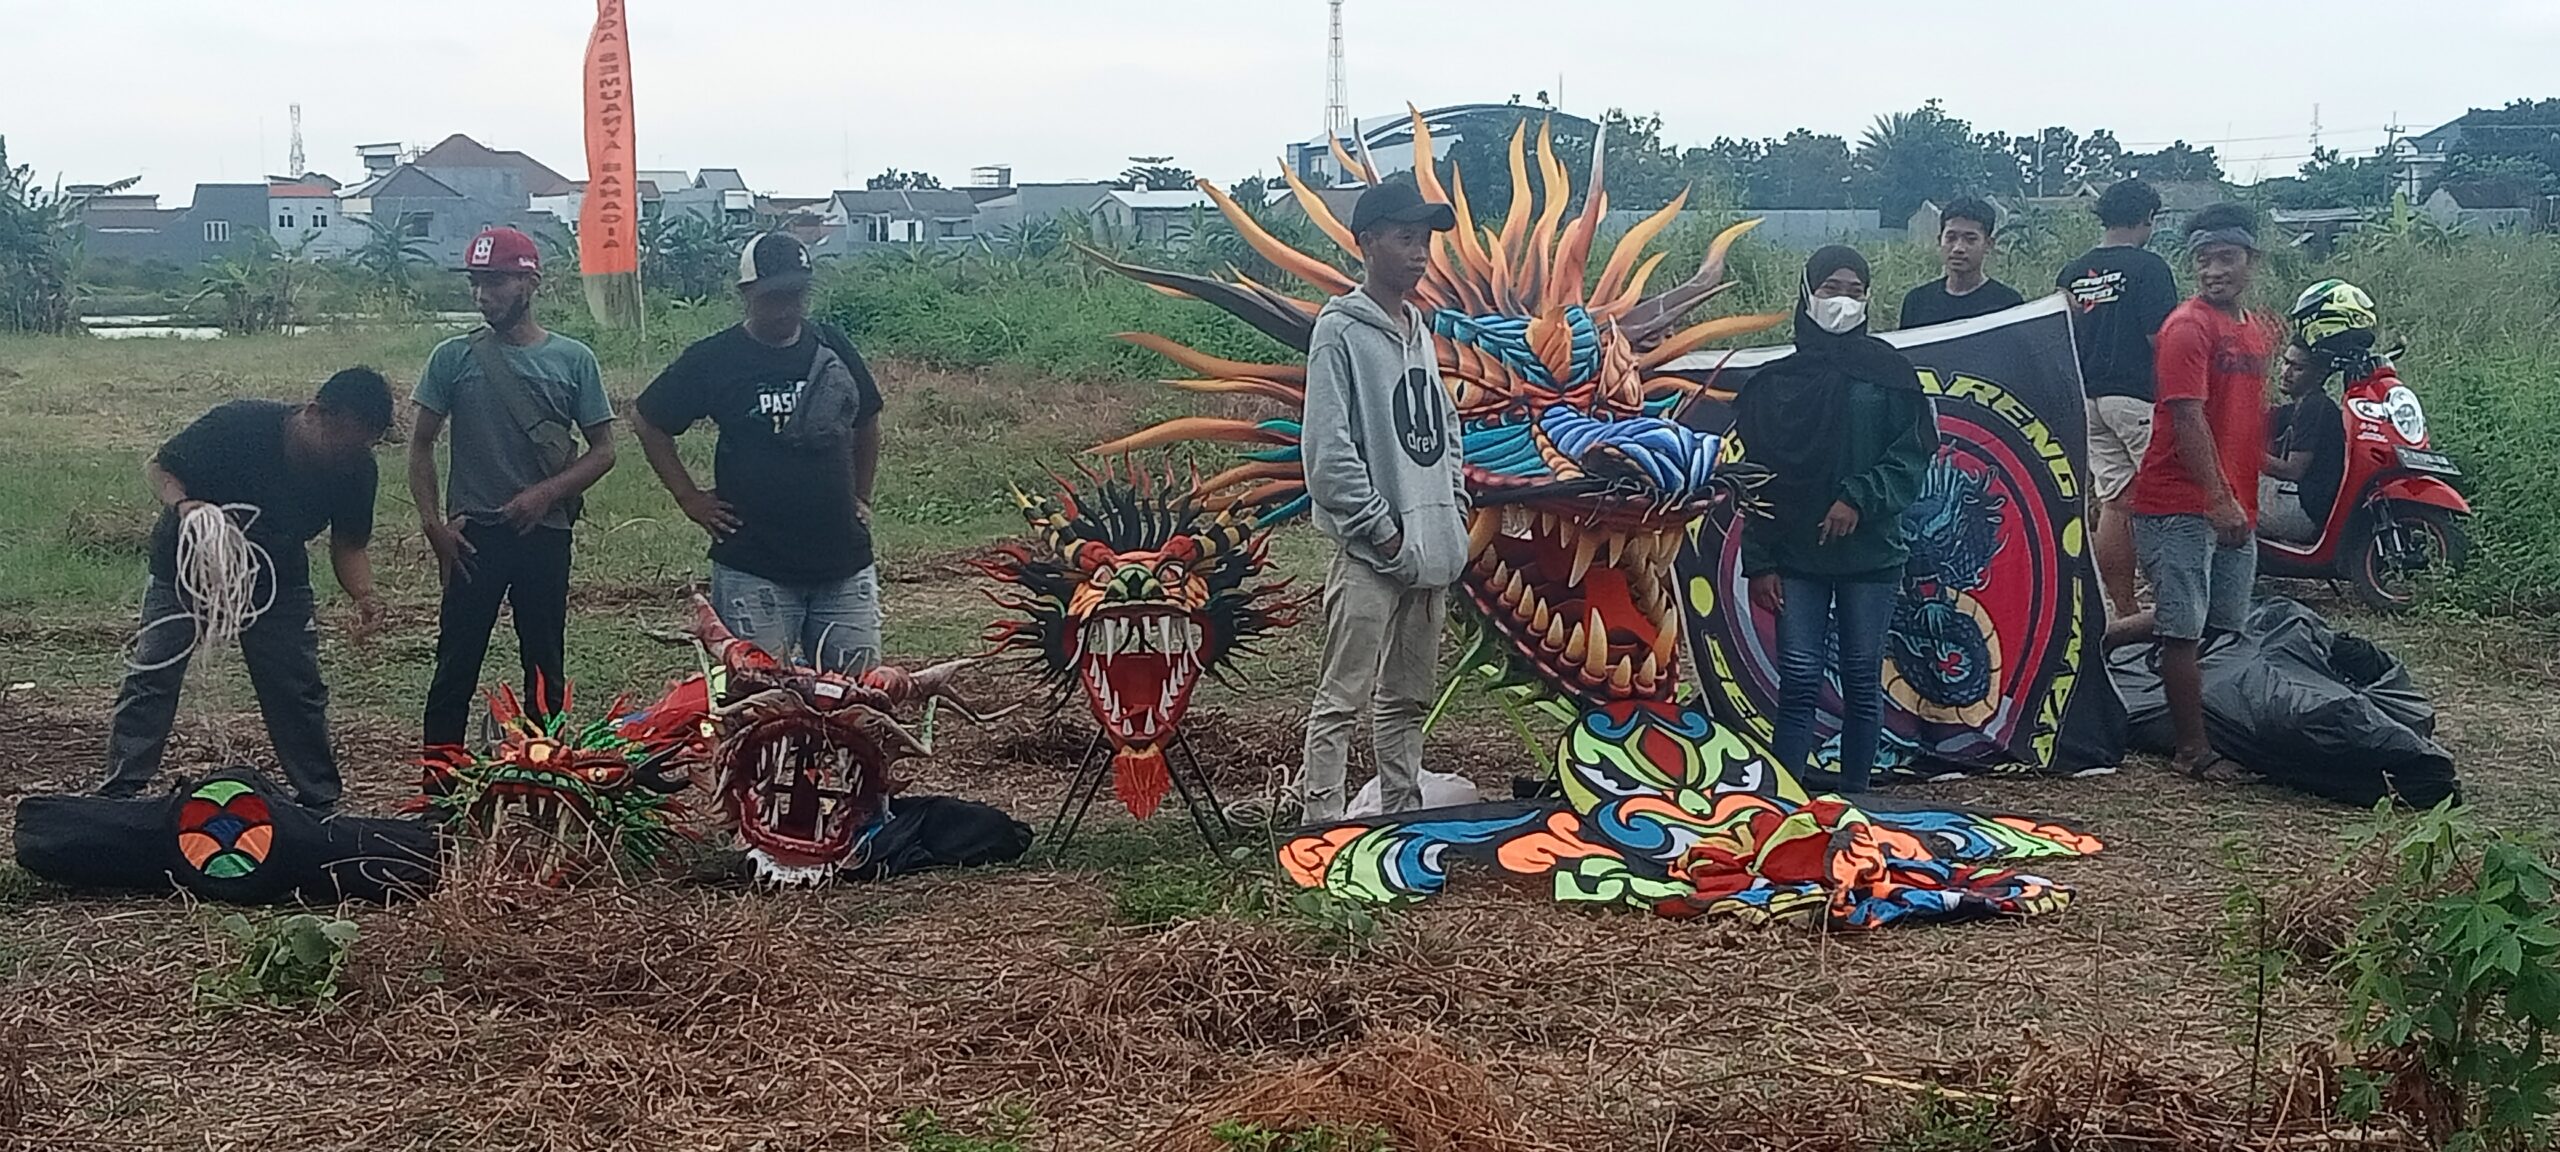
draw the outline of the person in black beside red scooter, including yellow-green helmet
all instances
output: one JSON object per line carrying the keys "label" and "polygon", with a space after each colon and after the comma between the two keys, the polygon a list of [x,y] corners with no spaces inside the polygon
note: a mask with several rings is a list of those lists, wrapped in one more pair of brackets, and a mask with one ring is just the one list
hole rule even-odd
{"label": "person in black beside red scooter, including yellow-green helmet", "polygon": [[2342,279],[2324,279],[2294,302],[2291,325],[2281,369],[2291,402],[2268,412],[2258,535],[2312,543],[2330,522],[2337,484],[2348,474],[2348,417],[2330,399],[2327,381],[2371,353],[2378,320],[2373,297]]}

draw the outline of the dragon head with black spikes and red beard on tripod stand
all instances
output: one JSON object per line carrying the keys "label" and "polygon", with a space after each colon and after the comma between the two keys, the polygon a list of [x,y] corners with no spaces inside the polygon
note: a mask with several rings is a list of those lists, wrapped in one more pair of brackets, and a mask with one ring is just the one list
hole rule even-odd
{"label": "dragon head with black spikes and red beard on tripod stand", "polygon": [[1021,614],[988,625],[986,640],[1037,666],[1060,704],[1083,686],[1111,740],[1114,791],[1144,819],[1172,788],[1165,748],[1201,678],[1290,625],[1295,604],[1285,581],[1262,581],[1267,532],[1252,512],[1211,512],[1170,471],[1106,466],[1088,481],[1060,481],[1055,497],[1014,492],[1039,540],[980,563],[1016,589],[996,602]]}

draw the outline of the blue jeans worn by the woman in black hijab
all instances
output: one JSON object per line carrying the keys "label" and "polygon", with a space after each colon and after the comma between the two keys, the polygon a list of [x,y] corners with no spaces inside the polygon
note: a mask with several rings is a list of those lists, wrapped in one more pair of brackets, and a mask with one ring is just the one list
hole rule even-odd
{"label": "blue jeans worn by the woman in black hijab", "polygon": [[1818,745],[1823,673],[1833,620],[1841,632],[1841,788],[1866,791],[1884,727],[1884,632],[1894,622],[1900,584],[1846,584],[1782,576],[1787,604],[1777,614],[1777,740],[1772,753],[1789,773]]}

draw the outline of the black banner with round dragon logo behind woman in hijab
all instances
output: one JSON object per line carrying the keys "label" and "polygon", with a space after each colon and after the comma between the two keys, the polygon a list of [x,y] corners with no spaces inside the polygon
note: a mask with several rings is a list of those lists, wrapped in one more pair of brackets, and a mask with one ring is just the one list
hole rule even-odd
{"label": "black banner with round dragon logo behind woman in hijab", "polygon": [[[1897,773],[2076,773],[2125,750],[2125,707],[2099,645],[2104,607],[2084,507],[2086,404],[2061,297],[1889,333],[1938,407],[1938,458],[1902,517],[1912,561],[1884,650],[1884,760]],[[1748,387],[1787,348],[1708,353],[1677,369]],[[1700,394],[1679,420],[1723,433]],[[1761,737],[1777,714],[1777,620],[1748,609],[1733,515],[1679,556],[1690,650],[1718,717]],[[1838,696],[1825,694],[1825,748]]]}

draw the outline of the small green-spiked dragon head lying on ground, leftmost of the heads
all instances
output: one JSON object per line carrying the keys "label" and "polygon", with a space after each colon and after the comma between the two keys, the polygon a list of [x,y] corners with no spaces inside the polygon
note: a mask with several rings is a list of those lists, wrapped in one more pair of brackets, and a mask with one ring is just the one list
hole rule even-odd
{"label": "small green-spiked dragon head lying on ground, leftmost of the heads", "polygon": [[532,717],[515,689],[492,691],[497,742],[489,753],[428,748],[417,806],[479,837],[530,829],[545,883],[573,878],[617,852],[648,870],[678,837],[676,794],[691,783],[684,748],[635,740],[620,699],[604,717],[581,724],[568,719],[571,694],[563,689],[561,696],[561,712]]}

